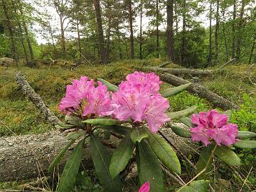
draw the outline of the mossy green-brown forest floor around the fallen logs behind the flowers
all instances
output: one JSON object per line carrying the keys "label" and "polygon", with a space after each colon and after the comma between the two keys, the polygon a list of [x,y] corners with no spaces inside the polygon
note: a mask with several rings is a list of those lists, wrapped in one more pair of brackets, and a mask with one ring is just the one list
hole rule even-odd
{"label": "mossy green-brown forest floor around the fallen logs behind the flowers", "polygon": [[[53,129],[48,122],[41,118],[36,107],[23,96],[16,85],[15,74],[21,70],[34,90],[41,95],[50,110],[58,117],[63,114],[58,111],[58,104],[65,94],[65,86],[74,78],[86,75],[89,78],[103,78],[116,85],[124,80],[125,76],[134,70],[140,70],[144,66],[160,65],[164,61],[153,60],[122,60],[106,65],[80,65],[70,70],[70,65],[39,65],[38,68],[0,67],[0,137],[18,134],[39,134]],[[179,68],[178,65],[167,65],[171,68]],[[183,78],[191,80],[191,77],[183,75]],[[228,65],[218,70],[214,75],[200,78],[200,83],[240,105],[241,109],[233,111],[232,122],[238,124],[240,130],[256,132],[256,66]],[[163,84],[161,87],[169,87]],[[169,99],[171,110],[183,110],[187,106],[197,105],[198,111],[210,110],[213,105],[199,97],[182,92]],[[256,167],[256,150],[237,151],[242,159],[241,172],[246,175],[251,166]],[[254,169],[255,170],[255,169]],[[225,173],[224,173],[225,174]],[[235,178],[230,175],[232,184]],[[232,178],[232,179],[231,179]],[[256,186],[256,171],[248,176],[252,186]],[[12,187],[11,187],[11,186]],[[18,188],[18,183],[0,183],[2,188]]]}

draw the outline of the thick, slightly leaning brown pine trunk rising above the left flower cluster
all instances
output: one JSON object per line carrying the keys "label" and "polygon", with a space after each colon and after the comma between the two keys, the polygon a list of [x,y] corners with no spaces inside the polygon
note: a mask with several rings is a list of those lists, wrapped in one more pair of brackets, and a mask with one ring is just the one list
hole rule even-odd
{"label": "thick, slightly leaning brown pine trunk rising above the left flower cluster", "polygon": [[95,7],[95,17],[97,19],[97,33],[98,33],[98,44],[100,50],[100,60],[101,62],[106,62],[106,50],[105,50],[105,43],[104,43],[104,35],[103,35],[103,28],[102,28],[102,18],[100,13],[100,0],[93,0],[93,4]]}

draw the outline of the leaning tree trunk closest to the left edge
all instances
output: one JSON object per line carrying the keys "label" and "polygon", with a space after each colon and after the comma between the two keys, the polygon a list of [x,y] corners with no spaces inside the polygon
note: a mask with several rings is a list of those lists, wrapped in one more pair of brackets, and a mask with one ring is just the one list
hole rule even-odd
{"label": "leaning tree trunk closest to the left edge", "polygon": [[17,63],[18,57],[17,57],[16,46],[15,46],[15,41],[14,41],[14,31],[13,31],[13,27],[11,26],[11,20],[9,18],[8,8],[6,6],[5,0],[2,0],[2,6],[3,6],[3,10],[4,10],[4,16],[6,17],[6,25],[7,25],[9,35],[11,38],[11,55]]}

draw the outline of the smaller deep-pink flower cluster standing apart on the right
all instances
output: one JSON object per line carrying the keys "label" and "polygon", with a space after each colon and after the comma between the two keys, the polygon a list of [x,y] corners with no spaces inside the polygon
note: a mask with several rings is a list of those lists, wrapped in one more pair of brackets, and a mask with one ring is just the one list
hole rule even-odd
{"label": "smaller deep-pink flower cluster standing apart on the right", "polygon": [[216,144],[230,145],[234,144],[238,136],[238,126],[228,123],[226,114],[220,114],[217,110],[209,112],[199,112],[192,114],[191,139],[193,142],[203,142],[206,146],[210,140],[214,139]]}

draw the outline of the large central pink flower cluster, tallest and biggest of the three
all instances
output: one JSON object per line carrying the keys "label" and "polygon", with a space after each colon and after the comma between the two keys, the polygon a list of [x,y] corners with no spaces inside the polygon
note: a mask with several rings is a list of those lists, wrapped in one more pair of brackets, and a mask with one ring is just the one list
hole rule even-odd
{"label": "large central pink flower cluster, tallest and biggest of the three", "polygon": [[114,117],[122,121],[132,119],[133,122],[145,119],[151,132],[157,132],[161,124],[169,121],[164,113],[169,102],[158,93],[159,84],[159,76],[154,73],[127,75],[126,81],[112,95]]}

